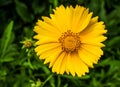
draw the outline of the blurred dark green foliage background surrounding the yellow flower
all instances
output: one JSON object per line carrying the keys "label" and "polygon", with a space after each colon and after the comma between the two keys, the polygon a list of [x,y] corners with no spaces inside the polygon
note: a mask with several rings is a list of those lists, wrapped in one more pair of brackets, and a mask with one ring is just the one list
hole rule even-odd
{"label": "blurred dark green foliage background surrounding the yellow flower", "polygon": [[[104,55],[79,78],[56,75],[34,53],[33,27],[63,4],[88,7],[106,24]],[[120,0],[0,0],[0,87],[120,87]]]}

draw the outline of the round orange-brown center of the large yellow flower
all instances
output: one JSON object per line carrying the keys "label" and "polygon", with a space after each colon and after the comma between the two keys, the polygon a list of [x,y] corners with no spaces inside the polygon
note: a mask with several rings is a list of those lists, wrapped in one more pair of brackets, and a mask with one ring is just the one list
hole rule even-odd
{"label": "round orange-brown center of the large yellow flower", "polygon": [[63,51],[74,52],[80,48],[80,38],[78,33],[73,33],[70,30],[64,32],[59,38]]}

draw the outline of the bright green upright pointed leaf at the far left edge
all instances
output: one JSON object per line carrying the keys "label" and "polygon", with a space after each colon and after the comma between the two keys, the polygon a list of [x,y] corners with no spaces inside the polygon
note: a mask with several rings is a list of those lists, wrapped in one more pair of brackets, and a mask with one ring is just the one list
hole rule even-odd
{"label": "bright green upright pointed leaf at the far left edge", "polygon": [[12,29],[13,29],[13,21],[11,21],[8,26],[6,27],[2,39],[1,39],[1,57],[4,56],[6,49],[8,47],[8,45],[10,44],[10,40],[11,40],[11,34],[12,34]]}

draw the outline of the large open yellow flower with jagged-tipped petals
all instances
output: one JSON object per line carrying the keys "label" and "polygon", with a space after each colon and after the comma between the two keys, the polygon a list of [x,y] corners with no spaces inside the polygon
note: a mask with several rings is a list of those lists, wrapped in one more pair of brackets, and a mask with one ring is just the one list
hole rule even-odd
{"label": "large open yellow flower with jagged-tipped petals", "polygon": [[85,75],[103,55],[105,25],[82,6],[61,5],[53,11],[50,18],[42,17],[34,27],[38,40],[35,51],[52,72]]}

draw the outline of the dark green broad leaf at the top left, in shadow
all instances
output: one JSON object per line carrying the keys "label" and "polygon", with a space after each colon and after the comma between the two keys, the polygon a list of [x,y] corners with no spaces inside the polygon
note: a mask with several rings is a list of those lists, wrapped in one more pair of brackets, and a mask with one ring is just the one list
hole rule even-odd
{"label": "dark green broad leaf at the top left, in shadow", "polygon": [[15,0],[15,3],[16,11],[18,15],[21,17],[21,19],[24,22],[31,22],[34,19],[34,16],[29,12],[28,7],[18,0]]}

